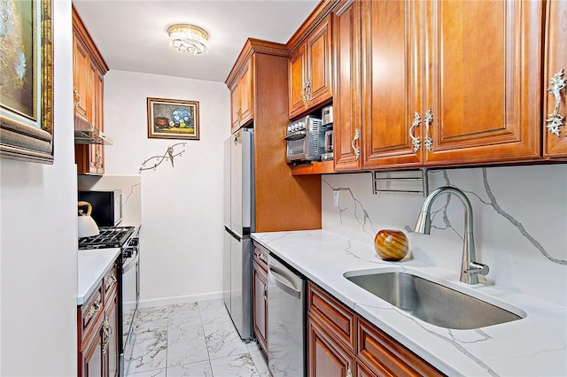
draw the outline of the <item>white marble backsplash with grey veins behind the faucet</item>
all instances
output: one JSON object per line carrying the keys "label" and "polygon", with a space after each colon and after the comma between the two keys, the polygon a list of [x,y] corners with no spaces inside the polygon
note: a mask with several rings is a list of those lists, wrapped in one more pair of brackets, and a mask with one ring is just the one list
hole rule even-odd
{"label": "white marble backsplash with grey veins behind the faucet", "polygon": [[[431,169],[429,181],[430,191],[448,185],[469,197],[477,259],[490,266],[488,282],[567,306],[567,165]],[[408,235],[410,258],[459,271],[461,202],[439,196],[431,235],[413,232],[422,203],[416,194],[374,195],[371,173],[322,176],[323,229],[369,247],[380,229],[400,229]]]}

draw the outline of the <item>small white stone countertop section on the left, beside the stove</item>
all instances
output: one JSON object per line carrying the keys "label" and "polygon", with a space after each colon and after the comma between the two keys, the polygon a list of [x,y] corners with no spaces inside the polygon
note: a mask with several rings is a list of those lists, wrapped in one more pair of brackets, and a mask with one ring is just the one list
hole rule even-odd
{"label": "small white stone countertop section on the left, beside the stove", "polygon": [[108,273],[120,254],[120,248],[89,249],[78,251],[79,284],[77,305],[82,305],[97,288],[98,283]]}

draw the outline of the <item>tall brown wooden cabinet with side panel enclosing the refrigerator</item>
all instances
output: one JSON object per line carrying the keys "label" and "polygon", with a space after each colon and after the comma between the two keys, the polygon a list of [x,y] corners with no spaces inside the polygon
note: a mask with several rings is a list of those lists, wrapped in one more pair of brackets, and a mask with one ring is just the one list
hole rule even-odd
{"label": "tall brown wooden cabinet with side panel enclosing the refrigerator", "polygon": [[249,38],[225,81],[227,88],[235,88],[245,76],[250,78],[244,81],[252,83],[249,113],[254,128],[256,232],[321,228],[321,177],[294,179],[285,162],[283,136],[289,124],[287,64],[284,44]]}

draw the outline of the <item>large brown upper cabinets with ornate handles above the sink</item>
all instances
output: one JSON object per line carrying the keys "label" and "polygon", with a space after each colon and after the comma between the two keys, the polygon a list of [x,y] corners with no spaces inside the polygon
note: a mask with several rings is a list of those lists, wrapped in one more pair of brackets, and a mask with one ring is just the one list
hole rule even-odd
{"label": "large brown upper cabinets with ornate handles above the sink", "polygon": [[[565,65],[550,52],[565,44],[565,5],[550,3],[547,57]],[[338,7],[335,171],[540,160],[544,13],[514,1]]]}

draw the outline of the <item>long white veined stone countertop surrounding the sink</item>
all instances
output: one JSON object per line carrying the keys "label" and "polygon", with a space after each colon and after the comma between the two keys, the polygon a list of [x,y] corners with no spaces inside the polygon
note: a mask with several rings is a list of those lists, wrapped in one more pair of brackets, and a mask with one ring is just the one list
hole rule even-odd
{"label": "long white veined stone countertop surrounding the sink", "polygon": [[[447,375],[567,375],[566,307],[497,285],[468,286],[458,273],[420,260],[386,262],[372,244],[324,230],[255,233],[252,239]],[[472,330],[433,326],[344,277],[358,270],[411,272],[524,318]]]}

